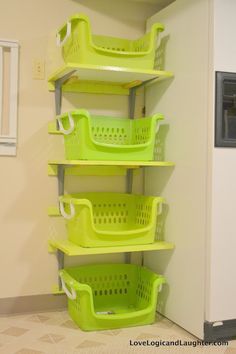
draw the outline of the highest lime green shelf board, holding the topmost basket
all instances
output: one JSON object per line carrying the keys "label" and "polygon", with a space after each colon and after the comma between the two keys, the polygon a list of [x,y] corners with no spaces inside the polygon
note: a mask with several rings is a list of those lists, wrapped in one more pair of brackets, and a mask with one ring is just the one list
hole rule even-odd
{"label": "highest lime green shelf board, holding the topmost basket", "polygon": [[49,90],[62,81],[64,92],[129,95],[129,89],[145,82],[161,81],[173,77],[170,71],[138,70],[115,66],[65,64],[49,80]]}

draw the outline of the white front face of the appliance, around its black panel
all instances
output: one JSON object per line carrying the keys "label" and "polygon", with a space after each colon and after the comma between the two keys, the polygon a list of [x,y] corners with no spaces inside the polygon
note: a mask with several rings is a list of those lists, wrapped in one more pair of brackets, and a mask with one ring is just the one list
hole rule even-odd
{"label": "white front face of the appliance, around its black panel", "polygon": [[[214,0],[214,71],[236,72],[235,14],[235,0]],[[236,149],[213,145],[212,149],[211,264],[206,319],[218,321],[236,318]]]}

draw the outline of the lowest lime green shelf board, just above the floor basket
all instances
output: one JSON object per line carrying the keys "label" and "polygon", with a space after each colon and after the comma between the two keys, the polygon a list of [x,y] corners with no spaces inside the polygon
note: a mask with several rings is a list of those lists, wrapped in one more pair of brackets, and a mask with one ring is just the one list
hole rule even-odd
{"label": "lowest lime green shelf board, just above the floor basket", "polygon": [[79,247],[74,243],[63,240],[50,240],[50,251],[55,252],[59,250],[67,256],[86,256],[92,254],[108,254],[108,253],[124,253],[124,252],[140,252],[140,251],[158,251],[169,250],[174,248],[174,244],[164,241],[156,241],[146,245],[130,245],[130,246],[116,246],[116,247],[94,247],[86,248]]}

